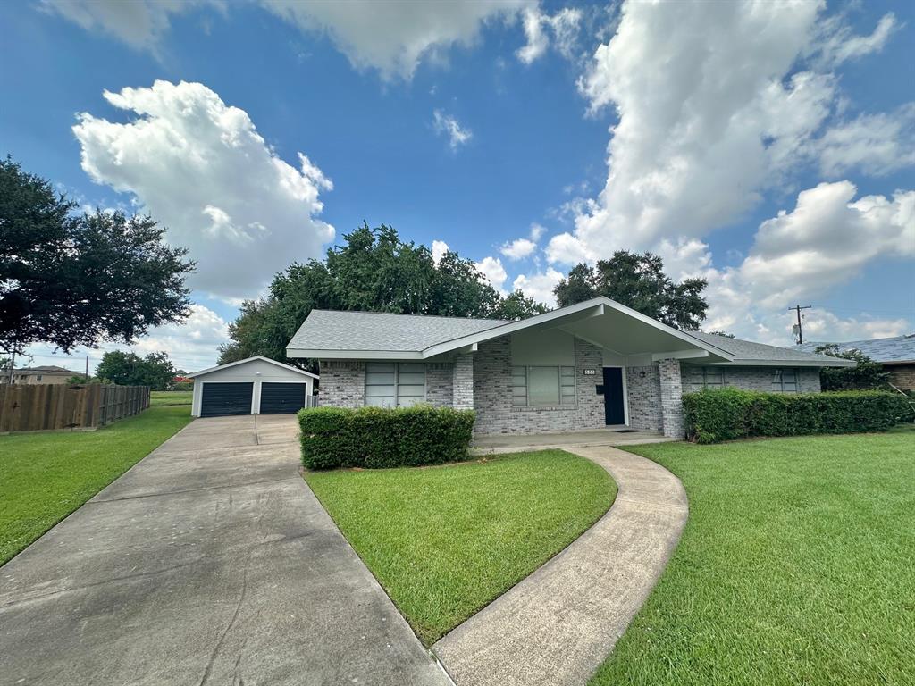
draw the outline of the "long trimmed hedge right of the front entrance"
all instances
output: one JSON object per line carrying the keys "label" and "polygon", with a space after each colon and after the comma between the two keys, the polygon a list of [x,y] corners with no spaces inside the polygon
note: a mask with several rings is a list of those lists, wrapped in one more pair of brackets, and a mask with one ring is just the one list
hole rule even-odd
{"label": "long trimmed hedge right of the front entrance", "polygon": [[854,434],[911,421],[905,397],[887,391],[765,393],[734,388],[684,395],[686,435],[698,443],[751,436]]}

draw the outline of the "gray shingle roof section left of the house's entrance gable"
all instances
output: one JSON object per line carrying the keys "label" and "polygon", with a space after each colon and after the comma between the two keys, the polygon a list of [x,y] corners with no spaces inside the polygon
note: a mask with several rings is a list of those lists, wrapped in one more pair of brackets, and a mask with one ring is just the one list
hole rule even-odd
{"label": "gray shingle roof section left of the house's entrance gable", "polygon": [[508,322],[460,316],[395,315],[386,312],[312,310],[289,341],[311,350],[420,352],[436,343],[476,334]]}

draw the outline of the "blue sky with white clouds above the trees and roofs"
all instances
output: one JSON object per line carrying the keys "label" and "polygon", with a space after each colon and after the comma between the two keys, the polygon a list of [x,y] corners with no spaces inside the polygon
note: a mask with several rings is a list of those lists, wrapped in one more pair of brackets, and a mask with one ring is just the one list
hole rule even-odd
{"label": "blue sky with white clouds above the trees and roofs", "polygon": [[547,302],[630,248],[709,279],[709,329],[789,345],[799,300],[808,338],[915,326],[912,5],[341,6],[0,7],[3,152],[199,261],[141,351],[210,364],[240,298],[362,220]]}

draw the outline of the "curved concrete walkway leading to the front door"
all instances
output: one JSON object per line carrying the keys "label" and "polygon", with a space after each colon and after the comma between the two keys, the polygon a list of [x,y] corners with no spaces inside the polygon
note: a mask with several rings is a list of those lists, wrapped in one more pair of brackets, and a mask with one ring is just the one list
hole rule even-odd
{"label": "curved concrete walkway leading to the front door", "polygon": [[617,482],[613,506],[565,551],[434,646],[458,686],[581,686],[661,576],[686,523],[680,479],[609,446],[570,450]]}

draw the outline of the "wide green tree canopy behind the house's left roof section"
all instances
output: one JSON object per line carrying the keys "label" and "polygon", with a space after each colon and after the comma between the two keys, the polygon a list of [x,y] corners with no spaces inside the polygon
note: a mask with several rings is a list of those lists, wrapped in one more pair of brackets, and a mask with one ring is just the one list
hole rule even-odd
{"label": "wide green tree canopy behind the house's left roof section", "polygon": [[246,300],[229,325],[220,364],[264,355],[286,359],[285,347],[312,309],[396,312],[410,315],[522,319],[546,311],[520,291],[502,297],[476,265],[446,252],[438,261],[425,245],[402,241],[382,224],[343,234],[323,262],[294,263],[277,273],[269,294]]}

